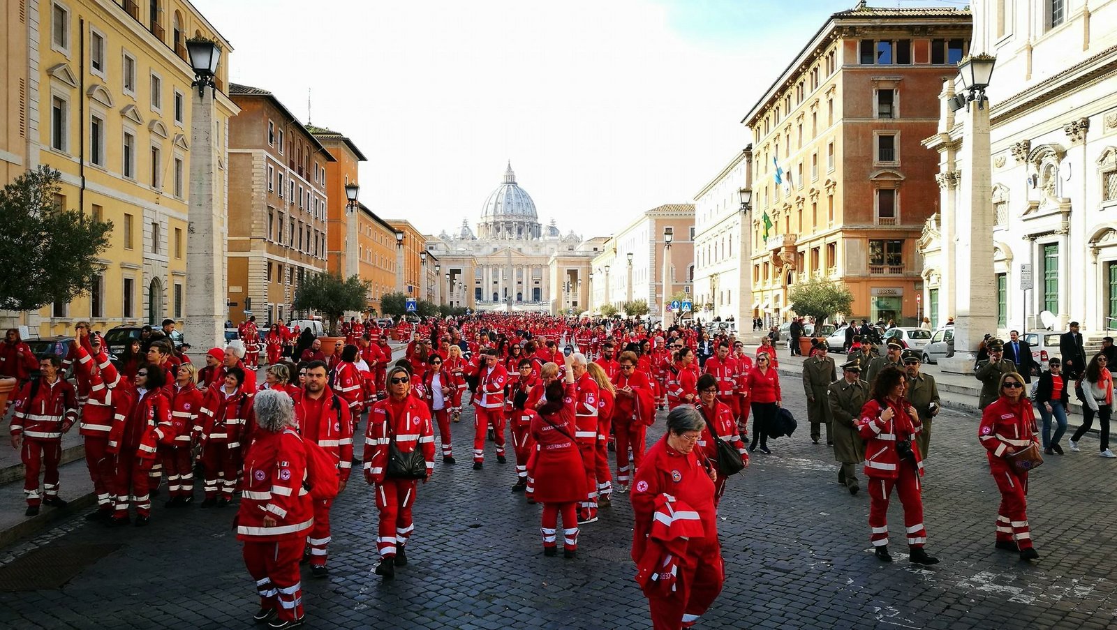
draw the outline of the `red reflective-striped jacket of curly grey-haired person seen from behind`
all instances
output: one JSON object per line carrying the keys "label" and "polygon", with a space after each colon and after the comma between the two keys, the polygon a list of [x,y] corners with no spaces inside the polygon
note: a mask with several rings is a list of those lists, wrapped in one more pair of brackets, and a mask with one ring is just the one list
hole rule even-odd
{"label": "red reflective-striped jacket of curly grey-haired person seen from behind", "polygon": [[[303,440],[290,428],[257,431],[245,454],[245,476],[237,513],[237,538],[248,542],[295,540],[314,525]],[[276,524],[264,525],[271,516]]]}

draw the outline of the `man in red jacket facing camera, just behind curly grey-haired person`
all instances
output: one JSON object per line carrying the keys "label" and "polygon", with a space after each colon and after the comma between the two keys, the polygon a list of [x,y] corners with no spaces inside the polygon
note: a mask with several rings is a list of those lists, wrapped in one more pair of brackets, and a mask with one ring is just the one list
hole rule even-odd
{"label": "man in red jacket facing camera, just behind curly grey-haired person", "polygon": [[[337,460],[341,480],[337,491],[345,489],[353,466],[353,420],[350,405],[326,384],[326,364],[313,361],[306,366],[306,384],[295,393],[295,420],[304,440],[313,440]],[[307,538],[311,573],[315,578],[330,574],[326,556],[330,545],[330,508],[332,499],[313,500],[314,528]]]}

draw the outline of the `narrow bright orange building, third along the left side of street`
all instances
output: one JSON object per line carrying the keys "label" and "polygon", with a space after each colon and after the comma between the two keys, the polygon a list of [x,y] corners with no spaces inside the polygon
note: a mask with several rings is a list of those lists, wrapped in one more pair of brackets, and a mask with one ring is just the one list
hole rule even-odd
{"label": "narrow bright orange building, third along the left side of street", "polygon": [[359,183],[357,164],[366,160],[356,144],[344,135],[314,125],[306,125],[306,128],[334,157],[334,161],[326,165],[326,193],[328,197],[326,261],[331,273],[349,277],[360,273],[360,269],[346,269],[347,260],[351,260],[345,255],[346,240],[350,238],[355,240],[357,230],[350,231],[350,218],[353,213],[347,211],[349,199],[345,197],[345,184]]}

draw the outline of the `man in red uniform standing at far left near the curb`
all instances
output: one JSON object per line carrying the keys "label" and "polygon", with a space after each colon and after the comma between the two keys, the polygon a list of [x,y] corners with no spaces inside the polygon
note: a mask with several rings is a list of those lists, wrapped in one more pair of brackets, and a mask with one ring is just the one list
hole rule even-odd
{"label": "man in red uniform standing at far left near the curb", "polygon": [[[77,392],[74,385],[60,378],[63,362],[57,355],[39,361],[42,374],[37,381],[23,385],[16,397],[16,414],[11,419],[11,447],[20,449],[23,462],[23,496],[27,497],[27,516],[39,513],[39,504],[61,507],[58,498],[58,462],[63,456],[63,433],[77,420]],[[39,470],[42,476],[42,496],[39,495]]]}

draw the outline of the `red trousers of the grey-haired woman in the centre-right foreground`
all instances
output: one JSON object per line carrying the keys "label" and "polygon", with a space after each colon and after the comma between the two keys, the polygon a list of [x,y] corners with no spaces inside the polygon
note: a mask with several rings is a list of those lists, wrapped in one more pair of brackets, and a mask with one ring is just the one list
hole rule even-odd
{"label": "red trousers of the grey-haired woman in the centre-right foreground", "polygon": [[[722,550],[717,541],[705,542],[705,538],[694,538],[687,545],[688,562],[679,563],[674,591],[665,593],[655,581],[649,581],[643,589],[655,630],[690,628],[722,592],[725,582]],[[703,546],[694,553],[690,550],[696,544]]]}

